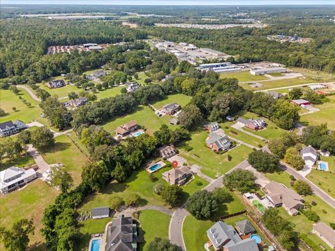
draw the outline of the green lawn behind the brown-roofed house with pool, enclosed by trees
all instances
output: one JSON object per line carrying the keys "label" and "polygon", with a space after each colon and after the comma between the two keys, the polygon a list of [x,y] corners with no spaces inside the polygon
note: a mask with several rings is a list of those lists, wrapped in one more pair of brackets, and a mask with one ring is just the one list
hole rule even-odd
{"label": "green lawn behind the brown-roofed house with pool, enclosed by trees", "polygon": [[113,132],[118,126],[124,125],[128,121],[135,120],[137,123],[146,128],[147,132],[152,134],[158,130],[165,120],[163,117],[156,116],[155,112],[149,107],[140,105],[136,107],[135,112],[127,114],[125,116],[115,117],[108,120],[103,128],[108,132]]}

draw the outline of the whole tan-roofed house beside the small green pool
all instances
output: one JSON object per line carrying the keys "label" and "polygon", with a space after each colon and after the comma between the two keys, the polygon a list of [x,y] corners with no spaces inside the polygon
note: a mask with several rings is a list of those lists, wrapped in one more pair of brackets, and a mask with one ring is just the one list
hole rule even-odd
{"label": "whole tan-roofed house beside the small green pool", "polygon": [[297,215],[298,209],[304,207],[301,196],[285,185],[271,181],[265,185],[265,190],[267,190],[265,197],[269,203],[272,206],[283,206],[291,216]]}

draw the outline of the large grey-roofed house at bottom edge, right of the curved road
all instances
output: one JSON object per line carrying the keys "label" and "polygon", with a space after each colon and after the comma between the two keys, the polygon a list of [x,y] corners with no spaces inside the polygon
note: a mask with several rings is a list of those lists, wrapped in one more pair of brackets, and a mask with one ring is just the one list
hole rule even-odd
{"label": "large grey-roofed house at bottom edge, right of the curved road", "polygon": [[207,230],[207,236],[214,250],[223,251],[259,251],[256,241],[252,238],[241,239],[237,231],[225,222],[216,222]]}

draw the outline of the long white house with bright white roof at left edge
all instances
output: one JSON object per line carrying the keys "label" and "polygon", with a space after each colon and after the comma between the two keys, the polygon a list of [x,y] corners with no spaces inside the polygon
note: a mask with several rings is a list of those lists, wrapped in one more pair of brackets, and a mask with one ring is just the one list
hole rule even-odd
{"label": "long white house with bright white roof at left edge", "polygon": [[9,167],[0,172],[0,190],[6,194],[17,188],[21,188],[27,183],[34,181],[37,174],[33,168],[23,169],[18,167]]}

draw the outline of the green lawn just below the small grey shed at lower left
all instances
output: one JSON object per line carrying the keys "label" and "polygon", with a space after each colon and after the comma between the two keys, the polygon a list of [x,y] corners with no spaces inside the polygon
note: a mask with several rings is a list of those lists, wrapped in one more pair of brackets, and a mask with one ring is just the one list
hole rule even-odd
{"label": "green lawn just below the small grey shed at lower left", "polygon": [[77,241],[75,245],[75,250],[77,251],[87,251],[89,247],[89,240],[92,234],[103,234],[105,227],[108,222],[111,222],[112,218],[104,219],[89,219],[84,222],[79,222],[81,238]]}

